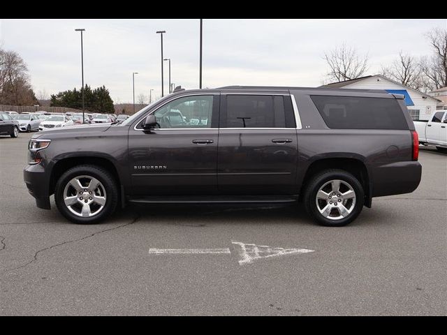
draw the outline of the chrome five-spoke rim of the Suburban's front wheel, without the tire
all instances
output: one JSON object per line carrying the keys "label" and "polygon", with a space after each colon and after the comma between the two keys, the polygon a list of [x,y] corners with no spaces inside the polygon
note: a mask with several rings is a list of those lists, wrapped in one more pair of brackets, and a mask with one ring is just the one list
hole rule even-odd
{"label": "chrome five-spoke rim of the Suburban's front wheel, without the tire", "polygon": [[95,216],[105,206],[105,188],[101,181],[90,176],[78,176],[64,188],[64,203],[77,216]]}

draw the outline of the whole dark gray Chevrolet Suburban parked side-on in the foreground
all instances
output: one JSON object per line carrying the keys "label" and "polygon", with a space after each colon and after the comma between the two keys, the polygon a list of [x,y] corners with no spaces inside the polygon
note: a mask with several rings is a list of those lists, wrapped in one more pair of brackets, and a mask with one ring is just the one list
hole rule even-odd
{"label": "whole dark gray Chevrolet Suburban parked side-on in the foreground", "polygon": [[66,127],[29,141],[36,204],[74,223],[140,203],[304,202],[346,225],[372,198],[420,182],[404,96],[381,90],[242,87],[177,91],[121,124]]}

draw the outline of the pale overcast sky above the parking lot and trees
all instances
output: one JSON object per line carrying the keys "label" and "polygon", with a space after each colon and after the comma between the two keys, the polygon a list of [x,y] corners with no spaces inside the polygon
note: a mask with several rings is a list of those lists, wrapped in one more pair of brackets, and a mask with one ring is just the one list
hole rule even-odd
{"label": "pale overcast sky above the parking lot and trees", "polygon": [[[368,54],[367,74],[379,73],[400,50],[432,54],[424,34],[447,20],[203,20],[203,87],[272,85],[317,87],[328,66],[324,52],[345,43]],[[38,95],[80,88],[80,33],[84,28],[84,77],[92,88],[105,85],[115,103],[140,94],[161,96],[163,57],[171,59],[171,80],[186,89],[199,86],[199,20],[5,20],[0,47],[27,63]],[[164,62],[165,94],[168,62]]]}

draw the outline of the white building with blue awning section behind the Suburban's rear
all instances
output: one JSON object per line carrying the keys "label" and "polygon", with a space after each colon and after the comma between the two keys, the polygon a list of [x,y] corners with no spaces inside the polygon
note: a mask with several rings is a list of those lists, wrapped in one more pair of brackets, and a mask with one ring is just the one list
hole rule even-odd
{"label": "white building with blue awning section behind the Suburban's rear", "polygon": [[383,75],[368,75],[344,82],[334,82],[322,87],[342,88],[342,89],[384,89],[388,93],[403,94],[405,104],[413,120],[428,120],[434,110],[436,110],[439,100],[428,94],[424,94],[416,89],[406,87],[399,82],[390,80]]}

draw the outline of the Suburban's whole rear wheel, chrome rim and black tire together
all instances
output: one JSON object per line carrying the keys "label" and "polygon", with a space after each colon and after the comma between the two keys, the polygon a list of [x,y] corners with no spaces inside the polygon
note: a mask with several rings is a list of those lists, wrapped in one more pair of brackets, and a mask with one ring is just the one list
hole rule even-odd
{"label": "Suburban's whole rear wheel, chrome rim and black tire together", "polygon": [[344,170],[326,170],[312,177],[305,191],[305,208],[321,225],[351,223],[363,208],[364,193],[358,179]]}

